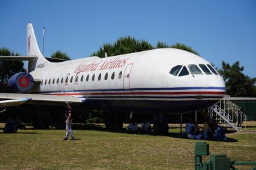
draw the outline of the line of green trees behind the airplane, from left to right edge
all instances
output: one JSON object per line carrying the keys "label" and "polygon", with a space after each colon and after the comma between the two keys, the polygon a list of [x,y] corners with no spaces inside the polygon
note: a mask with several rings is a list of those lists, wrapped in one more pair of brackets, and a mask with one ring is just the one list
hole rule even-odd
{"label": "line of green trees behind the airplane, from left to right edge", "polygon": [[[156,46],[153,46],[146,40],[137,40],[131,36],[118,38],[113,44],[103,44],[100,49],[93,52],[91,56],[99,56],[100,58],[107,56],[115,56],[120,54],[128,54],[131,52],[141,52],[144,50],[152,50],[156,48],[178,48],[192,52],[199,55],[199,53],[190,46],[185,44],[172,44],[168,45],[164,42],[158,42]],[[20,54],[12,52],[8,48],[0,48],[0,56],[19,56]],[[53,52],[52,58],[61,58],[65,60],[71,60],[69,55],[61,50]],[[256,97],[256,77],[249,77],[243,73],[245,67],[240,66],[240,62],[236,61],[230,65],[228,62],[222,60],[222,68],[217,69],[222,75],[225,84],[226,92],[232,97]],[[6,85],[9,77],[13,74],[26,71],[22,61],[3,61],[0,60],[0,92],[7,90]]]}

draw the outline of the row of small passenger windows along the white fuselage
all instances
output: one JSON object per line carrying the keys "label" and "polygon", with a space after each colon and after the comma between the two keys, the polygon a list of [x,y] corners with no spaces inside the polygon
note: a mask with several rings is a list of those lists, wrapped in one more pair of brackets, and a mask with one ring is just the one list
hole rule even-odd
{"label": "row of small passenger windows along the white fuselage", "polygon": [[[120,71],[119,72],[119,75],[118,75],[118,79],[121,79],[122,78],[122,75],[123,75],[123,73],[122,73],[122,71]],[[102,78],[102,74],[100,73],[99,75],[98,75],[98,81],[100,81]],[[86,81],[89,81],[89,79],[90,79],[90,75],[87,75],[87,76],[84,76],[84,75],[82,75],[82,77],[80,77],[80,81],[81,82],[83,82],[84,81],[84,78],[86,79]],[[106,73],[105,75],[104,75],[104,80],[107,80],[108,79],[108,73]],[[113,79],[115,79],[115,72],[113,72],[112,73],[112,75],[111,75],[111,79],[113,80]],[[59,84],[59,83],[63,83],[63,81],[64,81],[64,77],[62,77],[61,78],[61,80],[60,80],[60,78],[58,78],[57,79],[57,81],[56,81],[56,83],[57,84]],[[78,83],[78,80],[79,80],[79,75],[77,74],[76,75],[76,77],[75,77],[75,83]],[[94,81],[95,80],[95,74],[94,75],[92,75],[92,81]],[[67,83],[72,83],[73,82],[73,76],[71,76],[71,78],[69,79],[69,76],[67,76],[66,78],[65,78],[65,84],[67,84]],[[47,81],[47,79],[45,79],[45,80],[42,80],[41,81],[41,85],[44,83],[44,85],[46,85],[47,83],[50,85],[51,83],[52,84],[55,84],[55,79],[53,79],[53,81],[51,81],[51,79],[49,79],[48,81]]]}

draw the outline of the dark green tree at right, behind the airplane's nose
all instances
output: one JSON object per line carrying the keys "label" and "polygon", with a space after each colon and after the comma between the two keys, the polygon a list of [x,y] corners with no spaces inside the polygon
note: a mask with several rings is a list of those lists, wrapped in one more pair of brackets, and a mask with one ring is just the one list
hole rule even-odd
{"label": "dark green tree at right, behind the airplane's nose", "polygon": [[239,61],[229,65],[222,61],[222,69],[219,70],[226,83],[226,91],[232,97],[256,97],[256,77],[250,78],[242,72],[245,69],[239,66]]}

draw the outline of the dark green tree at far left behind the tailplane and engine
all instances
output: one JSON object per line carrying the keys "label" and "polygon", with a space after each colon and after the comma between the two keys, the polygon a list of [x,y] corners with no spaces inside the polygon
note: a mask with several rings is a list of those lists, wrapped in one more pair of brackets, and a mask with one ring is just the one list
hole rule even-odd
{"label": "dark green tree at far left behind the tailplane and engine", "polygon": [[[8,48],[0,48],[0,56],[19,56],[20,54],[11,52]],[[22,61],[0,60],[0,91],[7,91],[7,81],[15,73],[24,72]]]}

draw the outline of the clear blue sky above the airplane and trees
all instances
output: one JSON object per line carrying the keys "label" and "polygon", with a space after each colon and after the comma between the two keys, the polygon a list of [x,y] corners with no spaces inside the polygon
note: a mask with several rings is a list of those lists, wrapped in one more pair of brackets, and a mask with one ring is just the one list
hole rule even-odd
{"label": "clear blue sky above the airplane and trees", "polygon": [[34,26],[44,56],[56,50],[72,59],[90,56],[103,43],[133,36],[191,46],[221,67],[240,61],[256,77],[256,1],[0,1],[0,47],[26,55],[26,25]]}

